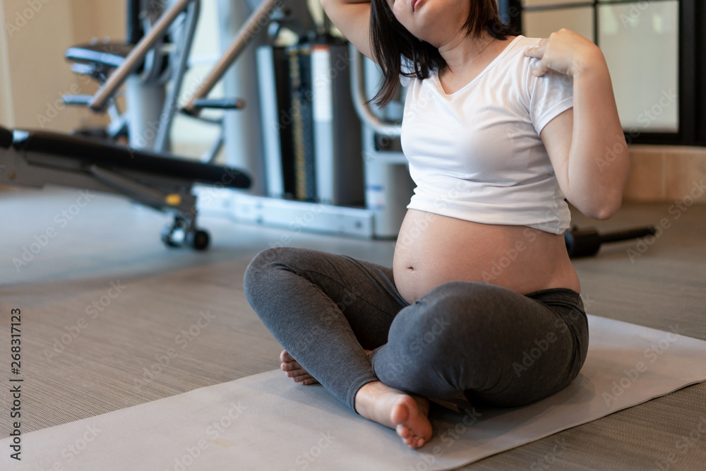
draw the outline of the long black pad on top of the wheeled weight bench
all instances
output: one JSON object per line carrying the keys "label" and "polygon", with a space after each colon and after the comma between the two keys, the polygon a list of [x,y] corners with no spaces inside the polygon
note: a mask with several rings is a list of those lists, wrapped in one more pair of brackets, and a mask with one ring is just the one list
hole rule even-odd
{"label": "long black pad on top of the wheeled weight bench", "polygon": [[[0,136],[2,136],[1,132]],[[86,167],[97,165],[104,169],[131,169],[203,184],[222,184],[227,188],[249,188],[250,186],[250,178],[246,174],[230,167],[205,164],[183,157],[174,157],[171,154],[135,150],[123,145],[66,134],[30,131],[27,136],[18,137],[14,141],[14,146],[25,152],[80,160],[85,162]]]}

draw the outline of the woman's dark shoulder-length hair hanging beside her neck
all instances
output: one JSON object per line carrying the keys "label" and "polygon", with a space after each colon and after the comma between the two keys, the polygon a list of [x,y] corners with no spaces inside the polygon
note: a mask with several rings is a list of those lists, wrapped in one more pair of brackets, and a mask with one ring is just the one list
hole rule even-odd
{"label": "woman's dark shoulder-length hair hanging beside her neck", "polygon": [[[517,32],[505,25],[500,19],[496,0],[469,0],[471,9],[462,30],[466,35],[481,37],[483,30],[498,39],[517,35]],[[438,49],[426,41],[419,41],[411,32],[397,21],[386,0],[371,0],[370,10],[370,45],[383,71],[383,82],[378,93],[370,101],[376,100],[378,106],[387,105],[397,89],[402,73],[402,56],[414,64],[412,72],[402,75],[417,77],[420,80],[429,77],[430,71],[445,71],[446,61]]]}

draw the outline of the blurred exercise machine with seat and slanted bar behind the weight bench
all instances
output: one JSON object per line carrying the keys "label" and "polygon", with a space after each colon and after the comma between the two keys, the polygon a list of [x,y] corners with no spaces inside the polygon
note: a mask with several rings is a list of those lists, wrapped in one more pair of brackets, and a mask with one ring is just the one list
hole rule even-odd
{"label": "blurred exercise machine with seat and slanted bar behind the weight bench", "polygon": [[[66,95],[64,102],[109,113],[107,129],[79,134],[112,140],[126,137],[131,148],[166,152],[201,1],[127,0],[126,5],[124,42],[93,40],[66,50],[71,70],[100,84],[99,102],[94,95]],[[123,87],[126,111],[121,113],[116,95]]]}

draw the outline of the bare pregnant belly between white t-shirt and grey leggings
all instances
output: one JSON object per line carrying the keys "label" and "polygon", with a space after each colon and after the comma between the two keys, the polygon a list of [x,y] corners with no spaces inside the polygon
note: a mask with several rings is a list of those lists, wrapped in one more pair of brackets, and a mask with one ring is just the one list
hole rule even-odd
{"label": "bare pregnant belly between white t-shirt and grey leggings", "polygon": [[408,210],[393,261],[395,285],[412,304],[453,280],[481,281],[520,294],[564,287],[580,292],[563,235],[488,225]]}

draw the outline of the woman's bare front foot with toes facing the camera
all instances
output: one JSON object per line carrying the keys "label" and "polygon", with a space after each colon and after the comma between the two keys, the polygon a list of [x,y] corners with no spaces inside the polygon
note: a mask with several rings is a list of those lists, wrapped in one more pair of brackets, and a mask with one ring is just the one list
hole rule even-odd
{"label": "woman's bare front foot with toes facing the camera", "polygon": [[366,419],[395,429],[409,448],[419,448],[431,439],[427,398],[408,395],[381,381],[373,381],[358,390],[355,409]]}

